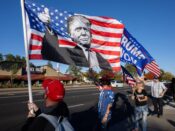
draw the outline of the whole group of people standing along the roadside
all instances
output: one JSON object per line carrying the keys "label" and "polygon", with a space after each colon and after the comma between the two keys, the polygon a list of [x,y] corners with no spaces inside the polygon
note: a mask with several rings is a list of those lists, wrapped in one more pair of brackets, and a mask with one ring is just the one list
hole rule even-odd
{"label": "whole group of people standing along the roadside", "polygon": [[[174,91],[173,80],[171,84],[172,91]],[[95,82],[95,85],[99,90],[99,100],[98,122],[93,130],[107,131],[110,127],[115,93],[111,87],[110,79],[101,78],[98,82]],[[131,99],[135,102],[132,117],[133,131],[139,131],[140,129],[147,131],[147,116],[150,112],[148,110],[148,93],[145,85],[151,87],[151,99],[154,106],[154,111],[151,113],[156,114],[158,118],[163,115],[163,96],[167,91],[167,87],[159,81],[158,77],[154,77],[151,82],[145,81],[144,78],[137,78],[135,86],[132,87],[131,96]],[[46,79],[43,81],[42,86],[45,91],[43,96],[44,108],[40,109],[34,102],[29,102],[27,120],[21,130],[52,131],[58,128],[53,122],[55,121],[53,119],[56,119],[56,124],[61,124],[59,130],[74,131],[74,127],[69,122],[68,106],[64,102],[64,85],[59,80]]]}

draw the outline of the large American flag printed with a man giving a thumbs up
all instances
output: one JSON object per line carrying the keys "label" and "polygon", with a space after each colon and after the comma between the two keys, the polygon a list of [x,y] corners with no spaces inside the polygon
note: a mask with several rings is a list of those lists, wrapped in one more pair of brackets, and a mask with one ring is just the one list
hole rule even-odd
{"label": "large American flag printed with a man giving a thumbs up", "polygon": [[30,59],[120,70],[124,25],[110,17],[88,16],[25,1]]}

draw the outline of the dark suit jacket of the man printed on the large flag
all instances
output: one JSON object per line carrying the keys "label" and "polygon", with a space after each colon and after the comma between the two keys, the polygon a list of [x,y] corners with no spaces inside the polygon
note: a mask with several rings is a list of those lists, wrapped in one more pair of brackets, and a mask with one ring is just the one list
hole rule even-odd
{"label": "dark suit jacket of the man printed on the large flag", "polygon": [[[52,60],[63,64],[89,67],[89,62],[80,47],[59,47],[58,38],[55,35],[50,35],[48,31],[46,31],[42,42],[41,54],[42,58],[45,60]],[[96,52],[96,56],[100,64],[100,68],[112,70],[109,63],[99,53]]]}

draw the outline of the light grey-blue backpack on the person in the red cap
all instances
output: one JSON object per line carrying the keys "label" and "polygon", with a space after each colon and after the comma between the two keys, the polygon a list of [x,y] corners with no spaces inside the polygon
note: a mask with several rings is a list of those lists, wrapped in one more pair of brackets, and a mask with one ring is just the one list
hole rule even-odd
{"label": "light grey-blue backpack on the person in the red cap", "polygon": [[39,117],[44,117],[47,119],[55,128],[55,131],[74,131],[74,128],[66,117],[60,116],[57,118],[56,116],[47,115],[44,113],[41,113]]}

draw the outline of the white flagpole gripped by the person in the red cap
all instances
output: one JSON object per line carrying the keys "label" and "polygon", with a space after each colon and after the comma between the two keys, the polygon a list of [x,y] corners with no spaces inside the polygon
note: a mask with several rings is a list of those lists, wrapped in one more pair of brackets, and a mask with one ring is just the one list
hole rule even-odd
{"label": "white flagpole gripped by the person in the red cap", "polygon": [[33,102],[32,97],[32,84],[31,84],[31,74],[30,74],[30,64],[29,64],[29,53],[28,53],[28,41],[27,41],[27,29],[26,29],[26,14],[24,10],[24,0],[21,0],[21,12],[22,12],[22,23],[23,23],[23,35],[24,35],[24,47],[26,54],[26,70],[27,70],[27,80],[28,80],[28,93],[29,93],[29,102]]}

